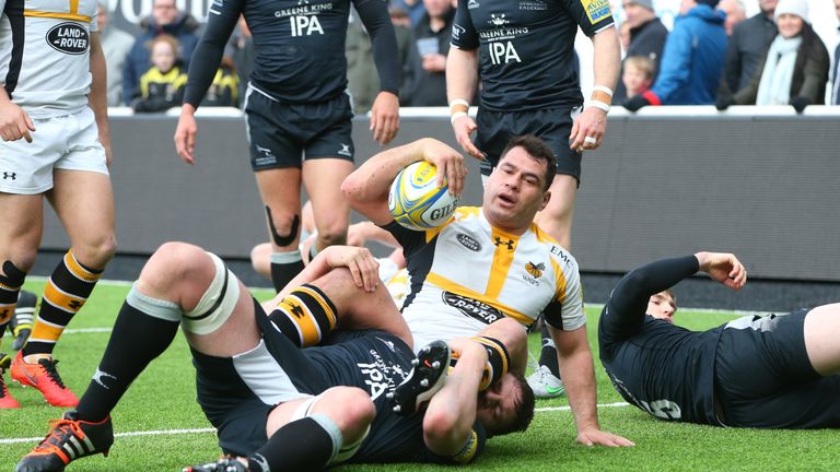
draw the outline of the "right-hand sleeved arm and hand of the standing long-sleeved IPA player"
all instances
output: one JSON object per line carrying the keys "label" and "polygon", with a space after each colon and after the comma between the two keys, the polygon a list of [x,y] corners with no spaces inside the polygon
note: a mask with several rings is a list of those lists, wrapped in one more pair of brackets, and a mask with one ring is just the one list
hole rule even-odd
{"label": "right-hand sleeved arm and hand of the standing long-sleeved IPA player", "polygon": [[380,93],[371,107],[373,140],[385,145],[399,131],[399,51],[386,2],[355,0],[355,10],[371,35],[373,62],[380,74]]}

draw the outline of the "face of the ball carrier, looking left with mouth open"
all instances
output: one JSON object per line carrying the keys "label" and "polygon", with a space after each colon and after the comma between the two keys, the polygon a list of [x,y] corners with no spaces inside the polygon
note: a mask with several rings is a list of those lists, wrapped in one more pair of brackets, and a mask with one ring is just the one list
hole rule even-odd
{"label": "face of the ball carrier, looking left with mouth open", "polygon": [[487,178],[485,215],[502,229],[524,231],[534,215],[548,203],[546,163],[529,156],[523,148],[508,152]]}

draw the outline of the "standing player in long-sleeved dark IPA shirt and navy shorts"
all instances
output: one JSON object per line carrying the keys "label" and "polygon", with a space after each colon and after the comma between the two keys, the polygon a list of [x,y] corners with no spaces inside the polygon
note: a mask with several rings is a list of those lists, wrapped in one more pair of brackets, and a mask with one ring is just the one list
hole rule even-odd
{"label": "standing player in long-sleeved dark IPA shirt and navy shorts", "polygon": [[[399,129],[399,59],[387,4],[352,0],[370,33],[380,92],[371,110],[373,138],[387,144]],[[195,164],[194,114],[240,19],[254,38],[256,58],[245,104],[250,164],[266,206],[272,244],[271,273],[280,288],[303,269],[298,249],[301,182],[318,229],[313,253],[343,244],[350,210],[341,181],[353,169],[352,106],[347,94],[345,39],[351,0],[230,0],[214,2],[189,67],[175,146]]]}

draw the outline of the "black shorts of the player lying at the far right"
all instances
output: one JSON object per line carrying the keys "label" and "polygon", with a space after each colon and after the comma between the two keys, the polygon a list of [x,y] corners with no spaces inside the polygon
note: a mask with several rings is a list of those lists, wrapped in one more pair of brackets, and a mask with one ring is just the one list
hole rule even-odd
{"label": "black shorts of the player lying at the far right", "polygon": [[[727,324],[715,356],[715,396],[727,426],[840,427],[840,375],[822,377],[805,351],[809,310]],[[734,323],[740,323],[733,327]]]}

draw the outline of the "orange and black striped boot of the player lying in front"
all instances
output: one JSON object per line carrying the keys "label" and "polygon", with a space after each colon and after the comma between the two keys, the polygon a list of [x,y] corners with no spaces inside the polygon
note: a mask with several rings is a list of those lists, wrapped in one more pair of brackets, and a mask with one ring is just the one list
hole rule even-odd
{"label": "orange and black striped boot of the player lying in front", "polygon": [[114,444],[110,417],[98,423],[77,420],[77,412],[49,422],[50,432],[32,452],[18,462],[14,472],[61,472],[70,461],[102,453]]}

